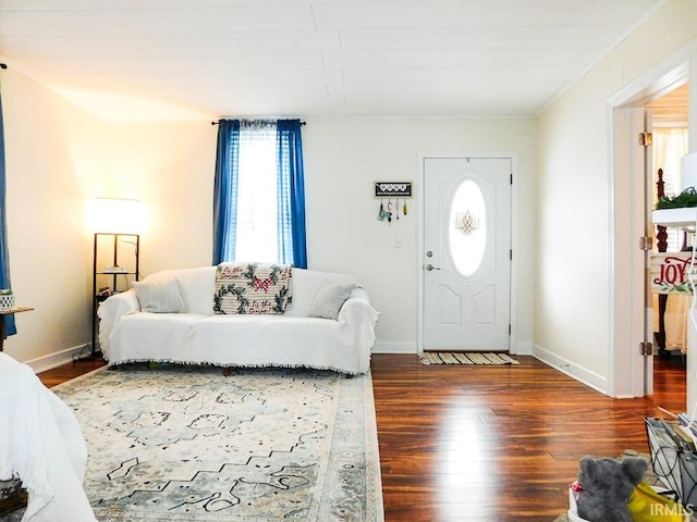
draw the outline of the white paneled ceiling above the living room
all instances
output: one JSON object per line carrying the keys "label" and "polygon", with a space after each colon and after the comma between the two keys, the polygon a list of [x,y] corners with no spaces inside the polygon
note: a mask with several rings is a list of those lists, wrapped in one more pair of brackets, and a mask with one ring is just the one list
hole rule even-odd
{"label": "white paneled ceiling above the living room", "polygon": [[663,1],[0,0],[0,61],[115,121],[530,116]]}

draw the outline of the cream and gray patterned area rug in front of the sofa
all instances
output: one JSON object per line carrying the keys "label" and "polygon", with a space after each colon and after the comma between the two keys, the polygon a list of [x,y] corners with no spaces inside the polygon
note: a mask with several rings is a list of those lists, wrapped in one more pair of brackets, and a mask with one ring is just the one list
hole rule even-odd
{"label": "cream and gray patterned area rug in front of the sofa", "polygon": [[100,522],[383,520],[369,375],[172,365],[53,390],[87,440]]}

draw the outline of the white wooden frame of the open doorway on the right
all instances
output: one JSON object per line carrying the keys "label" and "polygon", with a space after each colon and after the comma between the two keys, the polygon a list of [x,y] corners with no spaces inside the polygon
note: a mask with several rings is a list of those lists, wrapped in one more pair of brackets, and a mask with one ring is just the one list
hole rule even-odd
{"label": "white wooden frame of the open doorway on the right", "polygon": [[[678,49],[607,102],[610,172],[608,261],[611,286],[607,324],[611,346],[607,374],[608,395],[612,397],[643,397],[646,387],[644,360],[637,345],[637,339],[644,338],[647,321],[645,284],[638,266],[638,259],[643,258],[638,249],[638,231],[644,229],[645,215],[637,208],[637,198],[626,200],[628,187],[637,183],[636,175],[632,175],[633,160],[627,151],[627,144],[635,140],[632,136],[634,117],[629,113],[638,114],[637,111],[643,111],[649,100],[686,80],[689,82],[689,150],[697,151],[696,44]],[[640,183],[644,186],[644,179]],[[627,275],[627,266],[633,268],[631,276]],[[692,410],[697,399],[697,380],[693,376],[696,369],[697,357],[688,357],[686,406],[690,409],[687,411]]]}

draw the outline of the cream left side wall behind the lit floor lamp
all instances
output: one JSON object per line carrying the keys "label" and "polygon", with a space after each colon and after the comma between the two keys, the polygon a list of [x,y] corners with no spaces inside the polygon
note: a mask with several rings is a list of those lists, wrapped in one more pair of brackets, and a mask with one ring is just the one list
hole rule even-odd
{"label": "cream left side wall behind the lit floor lamp", "polygon": [[91,243],[84,202],[105,167],[103,122],[29,78],[0,74],[8,246],[17,335],[5,351],[36,368],[89,338]]}

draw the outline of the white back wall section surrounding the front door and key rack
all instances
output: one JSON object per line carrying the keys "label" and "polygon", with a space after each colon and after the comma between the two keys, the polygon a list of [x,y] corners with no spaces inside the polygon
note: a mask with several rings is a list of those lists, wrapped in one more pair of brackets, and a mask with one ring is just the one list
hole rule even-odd
{"label": "white back wall section surrounding the front door and key rack", "polygon": [[[529,349],[535,245],[535,127],[530,120],[310,120],[303,127],[311,268],[355,274],[381,312],[380,351],[416,351],[419,156],[513,152],[517,295],[513,316],[518,351]],[[409,212],[377,220],[374,182],[414,182]],[[395,237],[402,247],[395,248]],[[514,277],[516,275],[514,274]]]}

